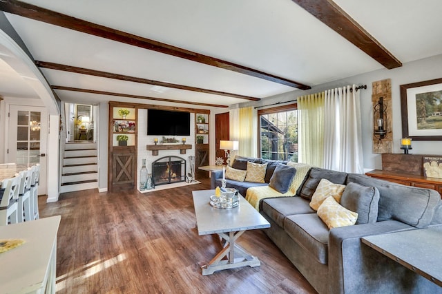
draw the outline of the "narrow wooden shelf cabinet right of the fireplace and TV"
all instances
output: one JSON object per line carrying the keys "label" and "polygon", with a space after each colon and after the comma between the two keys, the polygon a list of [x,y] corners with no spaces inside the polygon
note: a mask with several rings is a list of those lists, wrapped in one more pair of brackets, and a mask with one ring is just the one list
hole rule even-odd
{"label": "narrow wooden shelf cabinet right of the fireplace and TV", "polygon": [[209,165],[210,160],[210,111],[202,110],[195,113],[195,177],[207,178],[206,171],[198,169],[204,165]]}

